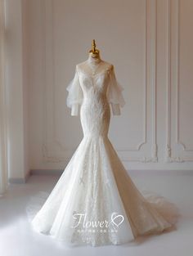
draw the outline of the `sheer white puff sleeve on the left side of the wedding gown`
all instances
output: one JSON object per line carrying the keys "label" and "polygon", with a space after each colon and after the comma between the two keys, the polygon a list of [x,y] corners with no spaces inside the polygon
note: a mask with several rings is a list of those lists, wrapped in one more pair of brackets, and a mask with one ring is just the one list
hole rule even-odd
{"label": "sheer white puff sleeve on the left side of the wedding gown", "polygon": [[79,115],[79,106],[83,102],[83,90],[79,83],[79,70],[76,65],[74,79],[67,86],[68,96],[66,105],[71,108],[71,115]]}

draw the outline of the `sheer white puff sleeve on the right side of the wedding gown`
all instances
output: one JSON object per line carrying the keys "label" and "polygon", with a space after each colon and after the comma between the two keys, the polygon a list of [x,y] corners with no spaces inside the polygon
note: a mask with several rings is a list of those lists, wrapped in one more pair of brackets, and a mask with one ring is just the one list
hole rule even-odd
{"label": "sheer white puff sleeve on the right side of the wedding gown", "polygon": [[123,87],[119,84],[115,77],[114,65],[111,66],[109,74],[110,80],[106,92],[107,101],[111,105],[113,115],[120,115],[120,107],[125,105],[125,101],[122,94]]}

